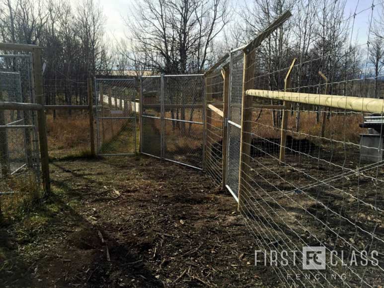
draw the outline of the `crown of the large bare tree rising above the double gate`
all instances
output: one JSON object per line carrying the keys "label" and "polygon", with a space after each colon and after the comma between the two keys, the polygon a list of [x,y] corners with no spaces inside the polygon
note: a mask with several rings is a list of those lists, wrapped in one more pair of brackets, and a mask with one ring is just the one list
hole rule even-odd
{"label": "crown of the large bare tree rising above the double gate", "polygon": [[211,43],[228,22],[228,0],[144,0],[126,21],[133,49],[158,72],[203,71]]}

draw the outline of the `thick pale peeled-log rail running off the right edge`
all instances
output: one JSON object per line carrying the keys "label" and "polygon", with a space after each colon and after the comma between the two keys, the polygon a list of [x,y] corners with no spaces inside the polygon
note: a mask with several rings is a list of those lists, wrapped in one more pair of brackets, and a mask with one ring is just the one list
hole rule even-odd
{"label": "thick pale peeled-log rail running off the right edge", "polygon": [[373,99],[367,97],[310,94],[256,89],[246,90],[246,95],[337,109],[346,109],[356,112],[382,113],[384,111],[383,99]]}

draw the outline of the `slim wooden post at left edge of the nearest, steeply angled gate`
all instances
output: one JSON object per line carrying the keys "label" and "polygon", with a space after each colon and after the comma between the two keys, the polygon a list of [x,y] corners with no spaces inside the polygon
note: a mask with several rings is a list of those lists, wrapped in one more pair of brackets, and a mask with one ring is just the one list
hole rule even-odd
{"label": "slim wooden post at left edge of the nearest, steeply angled gate", "polygon": [[222,189],[226,189],[227,184],[227,169],[228,169],[228,161],[227,161],[227,150],[228,150],[228,105],[230,98],[230,64],[226,64],[223,69],[223,78],[224,78],[224,93],[223,93],[223,186]]}

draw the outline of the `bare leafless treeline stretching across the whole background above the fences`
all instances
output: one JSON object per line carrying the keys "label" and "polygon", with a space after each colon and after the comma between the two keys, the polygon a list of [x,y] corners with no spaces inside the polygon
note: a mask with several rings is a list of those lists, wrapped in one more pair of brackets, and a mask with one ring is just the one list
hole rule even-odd
{"label": "bare leafless treeline stretching across the whole background above the fences", "polygon": [[[371,4],[360,2],[354,9],[347,0],[128,1],[122,7],[127,33],[116,39],[105,33],[108,15],[98,0],[2,0],[0,41],[43,46],[48,101],[54,103],[61,93],[70,103],[74,93],[81,94],[86,77],[95,74],[204,72],[290,9],[291,19],[257,53],[255,73],[264,75],[255,81],[260,88],[281,89],[284,69],[297,58],[295,87],[317,92],[321,71],[329,82],[372,77],[373,94],[381,97],[384,8],[373,6],[371,17]],[[362,17],[363,29],[355,23]],[[329,93],[347,88],[330,85]]]}

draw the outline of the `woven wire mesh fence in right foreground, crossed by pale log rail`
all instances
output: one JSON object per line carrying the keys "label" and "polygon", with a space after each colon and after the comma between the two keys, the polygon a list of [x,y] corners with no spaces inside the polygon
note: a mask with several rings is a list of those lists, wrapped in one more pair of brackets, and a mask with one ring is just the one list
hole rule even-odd
{"label": "woven wire mesh fence in right foreground, crossed by pale log rail", "polygon": [[[340,54],[323,51],[292,65],[295,56],[268,59],[266,47],[254,47],[244,50],[244,71],[231,71],[247,97],[239,210],[259,254],[295,287],[383,283],[383,101],[368,107],[378,92],[368,70],[348,69],[352,46],[338,51],[341,64]],[[318,266],[307,251],[321,255]]]}

